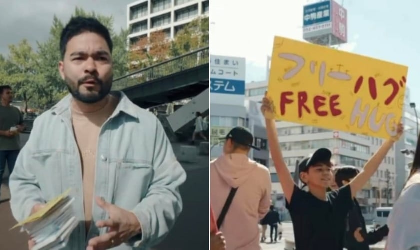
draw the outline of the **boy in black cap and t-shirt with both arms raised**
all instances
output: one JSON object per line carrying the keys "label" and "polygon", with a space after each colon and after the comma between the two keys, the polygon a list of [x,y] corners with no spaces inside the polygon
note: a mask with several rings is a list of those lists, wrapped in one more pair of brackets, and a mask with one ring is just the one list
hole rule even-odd
{"label": "boy in black cap and t-shirt with both arms raised", "polygon": [[386,140],[365,164],[364,169],[347,185],[327,192],[331,184],[331,151],[316,150],[299,164],[299,177],[309,192],[297,187],[287,169],[278,142],[273,102],[264,97],[261,110],[265,116],[272,160],[286,198],[286,208],[293,222],[296,250],[342,250],[345,219],[352,208],[353,197],[376,172],[383,158],[403,132],[397,126],[396,136]]}

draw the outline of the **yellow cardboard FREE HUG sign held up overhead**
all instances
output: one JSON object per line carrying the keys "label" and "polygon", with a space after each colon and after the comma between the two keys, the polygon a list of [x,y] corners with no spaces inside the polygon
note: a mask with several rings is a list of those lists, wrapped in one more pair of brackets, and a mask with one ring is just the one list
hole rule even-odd
{"label": "yellow cardboard FREE HUG sign held up overhead", "polygon": [[389,138],[401,120],[408,67],[274,38],[268,95],[276,119]]}

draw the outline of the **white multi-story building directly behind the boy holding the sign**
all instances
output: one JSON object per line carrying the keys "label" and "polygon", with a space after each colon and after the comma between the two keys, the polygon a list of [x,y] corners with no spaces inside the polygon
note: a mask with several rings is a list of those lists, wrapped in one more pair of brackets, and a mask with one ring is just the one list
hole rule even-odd
{"label": "white multi-story building directly behind the boy holding the sign", "polygon": [[[267,86],[267,81],[247,83],[246,99],[260,102]],[[326,147],[332,151],[332,160],[335,165],[352,165],[361,169],[383,142],[381,138],[285,121],[279,121],[276,125],[284,159],[293,175],[296,161],[309,156],[320,147]],[[396,194],[395,176],[397,176],[395,174],[396,148],[397,145],[388,152],[378,171],[372,176],[363,191],[357,195],[366,217],[369,217],[375,207],[393,204]],[[399,151],[397,153],[398,156],[403,157]],[[283,193],[271,158],[268,166],[272,176],[273,191],[277,194]]]}

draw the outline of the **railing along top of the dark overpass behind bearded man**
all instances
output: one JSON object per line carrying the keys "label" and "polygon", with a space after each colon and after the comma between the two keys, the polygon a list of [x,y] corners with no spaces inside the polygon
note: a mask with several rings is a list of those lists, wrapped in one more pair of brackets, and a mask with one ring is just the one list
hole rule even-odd
{"label": "railing along top of the dark overpass behind bearded man", "polygon": [[208,61],[208,47],[200,48],[114,79],[112,90],[121,90],[147,81],[159,79],[167,75],[206,64]]}

